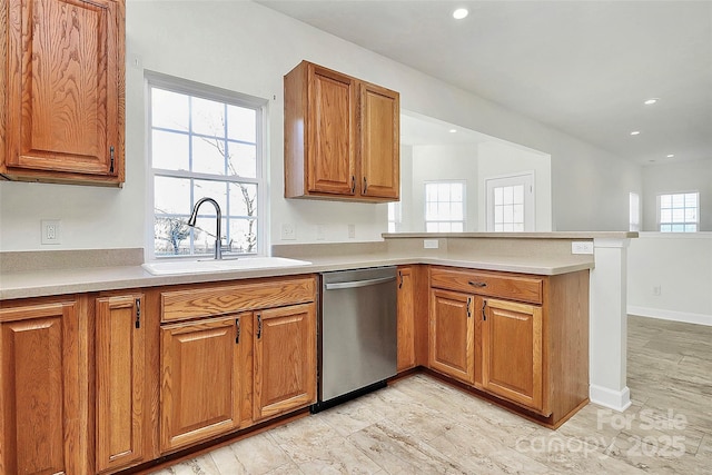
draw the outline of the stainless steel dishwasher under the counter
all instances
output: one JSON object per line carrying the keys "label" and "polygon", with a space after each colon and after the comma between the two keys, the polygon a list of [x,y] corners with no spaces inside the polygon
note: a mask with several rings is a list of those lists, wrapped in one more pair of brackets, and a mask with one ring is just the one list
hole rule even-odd
{"label": "stainless steel dishwasher under the counter", "polygon": [[396,268],[322,274],[318,412],[396,374]]}

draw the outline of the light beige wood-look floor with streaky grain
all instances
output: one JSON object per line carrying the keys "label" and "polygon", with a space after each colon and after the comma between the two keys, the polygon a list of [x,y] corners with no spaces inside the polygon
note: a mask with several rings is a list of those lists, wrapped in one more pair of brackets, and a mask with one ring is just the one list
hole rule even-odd
{"label": "light beige wood-look floor with streaky grain", "polygon": [[557,431],[416,375],[156,474],[712,474],[712,327],[630,317],[627,369]]}

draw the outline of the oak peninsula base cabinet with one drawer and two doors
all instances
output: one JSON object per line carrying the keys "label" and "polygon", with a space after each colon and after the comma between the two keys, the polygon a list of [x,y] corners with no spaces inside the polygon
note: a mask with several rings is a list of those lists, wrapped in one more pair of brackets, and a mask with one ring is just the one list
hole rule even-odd
{"label": "oak peninsula base cabinet with one drawer and two doors", "polygon": [[[589,399],[589,271],[431,266],[431,369],[557,427]],[[510,406],[512,407],[512,406]]]}

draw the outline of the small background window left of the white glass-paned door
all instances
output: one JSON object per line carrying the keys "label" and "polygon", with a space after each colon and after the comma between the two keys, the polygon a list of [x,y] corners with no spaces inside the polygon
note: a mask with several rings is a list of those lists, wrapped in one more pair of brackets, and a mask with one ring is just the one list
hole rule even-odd
{"label": "small background window left of the white glass-paned door", "polygon": [[462,232],[465,230],[465,182],[425,184],[425,230]]}

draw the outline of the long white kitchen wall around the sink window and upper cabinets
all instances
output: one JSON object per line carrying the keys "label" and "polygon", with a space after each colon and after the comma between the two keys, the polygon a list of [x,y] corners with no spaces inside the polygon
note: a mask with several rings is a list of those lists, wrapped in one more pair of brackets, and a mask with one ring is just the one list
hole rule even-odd
{"label": "long white kitchen wall around the sink window and upper cabinets", "polygon": [[[308,59],[400,92],[402,108],[552,156],[554,229],[626,229],[639,167],[253,2],[127,3],[127,182],[123,189],[0,184],[0,250],[144,247],[146,154],[144,68],[269,99],[271,237],[296,225],[299,241],[377,240],[386,205],[283,198],[283,76]],[[61,219],[62,244],[41,246],[40,219]]]}

